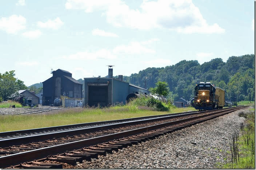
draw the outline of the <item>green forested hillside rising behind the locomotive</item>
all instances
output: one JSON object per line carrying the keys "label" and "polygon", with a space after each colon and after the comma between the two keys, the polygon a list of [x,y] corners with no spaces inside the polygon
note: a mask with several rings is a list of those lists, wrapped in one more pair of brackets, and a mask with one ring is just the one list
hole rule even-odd
{"label": "green forested hillside rising behind the locomotive", "polygon": [[202,81],[225,89],[226,100],[233,101],[233,97],[239,101],[254,100],[254,58],[254,54],[232,56],[227,62],[215,58],[201,65],[197,60],[183,60],[165,68],[147,68],[131,76],[124,76],[124,81],[147,89],[155,87],[157,81],[166,81],[172,100],[193,98],[196,84]]}

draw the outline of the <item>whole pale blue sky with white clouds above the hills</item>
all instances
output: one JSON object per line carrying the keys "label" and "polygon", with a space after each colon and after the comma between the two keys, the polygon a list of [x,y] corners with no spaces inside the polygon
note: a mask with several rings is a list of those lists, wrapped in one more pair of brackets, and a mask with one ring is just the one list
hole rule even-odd
{"label": "whole pale blue sky with white clouds above the hills", "polygon": [[254,54],[253,0],[0,0],[0,73],[29,86]]}

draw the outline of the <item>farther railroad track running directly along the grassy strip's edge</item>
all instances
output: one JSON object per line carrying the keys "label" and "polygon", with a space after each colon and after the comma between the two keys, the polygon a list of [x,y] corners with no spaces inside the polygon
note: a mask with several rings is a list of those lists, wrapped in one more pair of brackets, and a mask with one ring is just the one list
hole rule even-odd
{"label": "farther railroad track running directly along the grassy strip's edge", "polygon": [[[209,110],[203,111],[201,113],[207,113],[207,112],[209,112]],[[120,122],[144,120],[144,119],[157,118],[157,117],[179,116],[179,115],[184,115],[184,114],[196,114],[196,113],[199,113],[199,112],[191,111],[191,112],[182,112],[182,113],[175,113],[175,114],[164,114],[164,115],[158,115],[158,116],[127,118],[127,119],[122,119],[122,120],[90,122],[90,123],[73,124],[73,125],[52,126],[52,127],[47,127],[47,128],[6,131],[6,132],[0,132],[0,139],[23,137],[23,136],[35,135],[35,134],[45,134],[45,133],[52,133],[52,132],[57,132],[57,131],[66,131],[66,130],[71,130],[71,129],[89,128],[89,127],[93,127],[93,126],[102,126],[102,125],[116,124],[116,123],[120,123]]]}

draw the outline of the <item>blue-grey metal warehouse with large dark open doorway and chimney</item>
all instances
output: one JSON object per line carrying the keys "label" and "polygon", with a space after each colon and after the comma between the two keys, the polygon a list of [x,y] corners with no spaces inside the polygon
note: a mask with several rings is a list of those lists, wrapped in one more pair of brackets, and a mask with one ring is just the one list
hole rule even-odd
{"label": "blue-grey metal warehouse with large dark open doorway and chimney", "polygon": [[125,104],[131,93],[149,94],[149,90],[123,81],[123,76],[113,78],[113,69],[109,66],[108,78],[84,78],[84,104],[89,106]]}

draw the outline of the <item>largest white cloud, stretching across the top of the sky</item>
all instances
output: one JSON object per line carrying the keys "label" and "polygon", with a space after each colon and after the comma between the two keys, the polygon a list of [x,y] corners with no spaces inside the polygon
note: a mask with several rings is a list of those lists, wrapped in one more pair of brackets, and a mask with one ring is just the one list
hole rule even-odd
{"label": "largest white cloud, stretching across the top of the sky", "polygon": [[181,33],[224,33],[218,24],[209,25],[192,0],[143,0],[139,9],[130,9],[121,0],[67,0],[66,9],[86,13],[102,11],[108,23],[133,29],[167,28]]}

